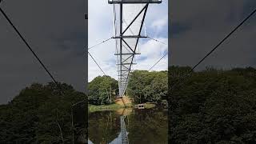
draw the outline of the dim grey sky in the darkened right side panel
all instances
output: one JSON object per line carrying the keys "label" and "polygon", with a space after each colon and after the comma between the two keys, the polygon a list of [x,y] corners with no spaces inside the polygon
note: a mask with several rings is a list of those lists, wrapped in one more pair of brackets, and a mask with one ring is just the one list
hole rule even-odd
{"label": "dim grey sky in the darkened right side panel", "polygon": [[[170,66],[194,66],[256,7],[254,0],[170,1]],[[256,16],[196,70],[256,67]]]}

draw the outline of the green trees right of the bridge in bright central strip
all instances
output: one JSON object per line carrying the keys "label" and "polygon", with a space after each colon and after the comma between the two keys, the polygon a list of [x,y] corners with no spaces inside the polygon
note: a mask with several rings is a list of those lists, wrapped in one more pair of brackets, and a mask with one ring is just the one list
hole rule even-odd
{"label": "green trees right of the bridge in bright central strip", "polygon": [[128,95],[134,102],[162,102],[168,93],[167,71],[135,70],[127,87]]}

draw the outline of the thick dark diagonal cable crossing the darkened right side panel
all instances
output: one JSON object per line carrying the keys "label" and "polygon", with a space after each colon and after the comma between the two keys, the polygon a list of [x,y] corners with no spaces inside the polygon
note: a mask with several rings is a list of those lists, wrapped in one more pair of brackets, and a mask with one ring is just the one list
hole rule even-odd
{"label": "thick dark diagonal cable crossing the darkened right side panel", "polygon": [[[234,32],[235,32],[236,30],[238,30],[238,28],[239,28],[240,26],[242,26],[251,16],[253,16],[253,15],[255,14],[255,12],[256,12],[256,9],[253,10],[244,20],[242,20],[242,22],[240,22],[240,23],[238,24],[238,26],[236,26],[236,27],[234,28],[234,30],[232,30],[229,34],[227,34],[226,37],[223,38],[221,42],[219,42],[216,46],[214,46],[214,48],[213,48],[212,50],[210,50],[210,52],[209,52],[208,54],[206,54],[206,56],[205,56],[204,58],[202,58],[196,65],[194,65],[193,68],[192,68],[187,74],[185,74],[185,75],[181,78],[181,80],[182,80],[182,79],[185,79],[187,76],[189,76],[189,75],[194,71],[194,69],[195,69],[200,63],[202,63],[208,56],[210,56],[210,54],[212,54],[212,53],[214,52],[214,50],[216,50],[219,46],[221,46],[222,43],[225,42],[227,38],[229,38],[232,34],[234,34]],[[179,81],[179,82],[180,82],[180,81]],[[176,84],[178,85],[178,82],[177,82]],[[174,86],[173,86],[173,89],[174,89],[175,86],[177,86],[177,85],[174,85]]]}

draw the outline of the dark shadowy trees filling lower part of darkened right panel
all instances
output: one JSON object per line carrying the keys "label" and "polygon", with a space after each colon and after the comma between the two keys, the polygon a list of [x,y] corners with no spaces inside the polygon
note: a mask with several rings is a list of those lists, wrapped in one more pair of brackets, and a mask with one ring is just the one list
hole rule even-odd
{"label": "dark shadowy trees filling lower part of darkened right panel", "polygon": [[169,69],[170,142],[255,143],[256,70],[188,70]]}

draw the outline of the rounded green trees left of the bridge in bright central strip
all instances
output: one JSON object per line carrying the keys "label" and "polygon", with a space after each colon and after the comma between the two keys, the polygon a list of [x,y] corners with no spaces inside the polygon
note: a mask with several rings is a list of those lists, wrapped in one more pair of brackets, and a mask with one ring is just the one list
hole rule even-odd
{"label": "rounded green trees left of the bridge in bright central strip", "polygon": [[89,82],[88,102],[92,105],[102,105],[110,103],[110,95],[117,94],[118,82],[110,76],[98,76]]}

